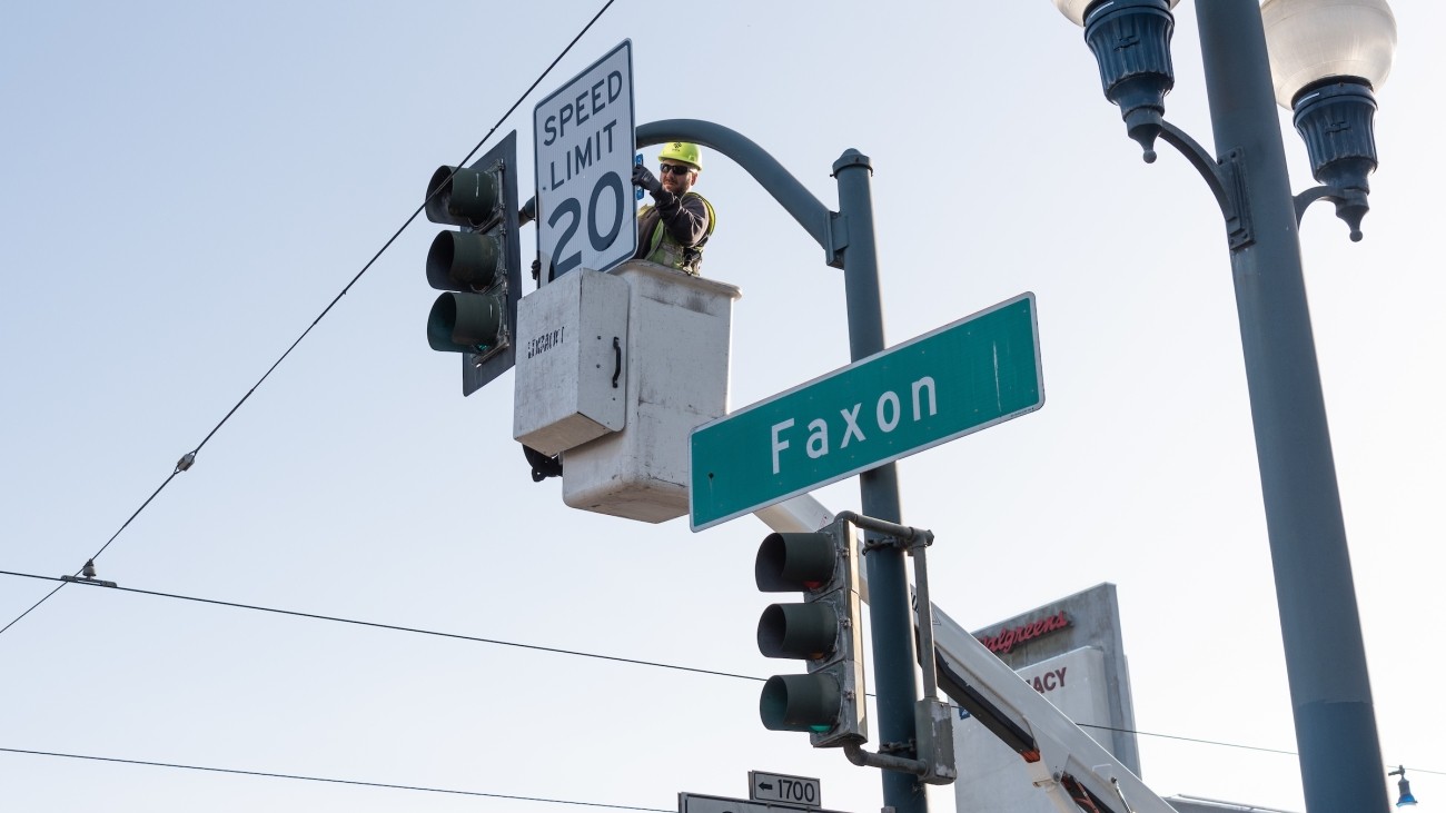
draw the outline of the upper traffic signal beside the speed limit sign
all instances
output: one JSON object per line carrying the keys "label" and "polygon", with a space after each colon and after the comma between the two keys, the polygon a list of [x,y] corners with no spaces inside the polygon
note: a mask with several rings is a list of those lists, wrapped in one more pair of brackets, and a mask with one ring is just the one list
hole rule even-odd
{"label": "upper traffic signal beside the speed limit sign", "polygon": [[516,362],[522,247],[518,226],[518,133],[471,166],[441,166],[427,185],[427,218],[442,230],[427,252],[438,291],[427,317],[432,350],[463,354],[461,393],[471,395]]}

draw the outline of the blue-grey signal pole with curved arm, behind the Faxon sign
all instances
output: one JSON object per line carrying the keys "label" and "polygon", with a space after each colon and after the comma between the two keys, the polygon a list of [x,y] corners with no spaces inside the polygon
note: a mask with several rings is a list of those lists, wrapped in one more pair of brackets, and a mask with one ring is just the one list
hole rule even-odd
{"label": "blue-grey signal pole with curved arm, behind the Faxon sign", "polygon": [[[849,310],[849,356],[865,359],[884,350],[884,302],[879,259],[873,242],[873,195],[868,156],[846,150],[833,165],[839,182],[839,211],[788,174],[774,156],[735,130],[696,119],[669,119],[638,126],[638,146],[681,140],[714,149],[742,166],[823,249],[824,262],[843,268]],[[899,524],[898,473],[886,463],[859,474],[862,514]],[[873,687],[878,699],[879,746],[908,751],[914,739],[914,626],[910,615],[904,551],[886,545],[866,557]],[[911,752],[904,755],[912,757]],[[884,804],[895,813],[927,813],[928,800],[912,774],[882,771]]]}

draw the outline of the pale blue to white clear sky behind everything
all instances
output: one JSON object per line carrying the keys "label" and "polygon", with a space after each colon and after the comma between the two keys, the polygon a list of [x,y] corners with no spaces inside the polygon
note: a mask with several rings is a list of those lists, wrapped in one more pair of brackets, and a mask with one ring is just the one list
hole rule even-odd
{"label": "pale blue to white clear sky behind everything", "polygon": [[[6,4],[0,569],[75,573],[602,6]],[[1365,242],[1317,205],[1301,243],[1381,746],[1430,810],[1446,800],[1446,12],[1394,6]],[[1194,6],[1176,13],[1167,117],[1209,146]],[[733,127],[831,208],[834,159],[872,158],[891,343],[1035,294],[1044,408],[899,464],[904,521],[937,535],[936,602],[982,628],[1112,582],[1141,731],[1294,751],[1220,216],[1167,146],[1141,162],[1080,30],[1048,0],[617,0],[493,136],[519,130],[523,176],[532,106],[628,38],[641,122]],[[1280,114],[1300,191],[1306,150]],[[732,404],[846,365],[840,272],[723,156],[706,156],[698,191],[719,211],[704,273],[743,289]],[[382,255],[100,576],[791,670],[755,647],[775,600],[752,583],[761,522],[691,534],[568,509],[510,437],[512,375],[460,396],[457,359],[422,330],[435,230],[419,221]],[[817,496],[859,508],[855,480]],[[0,623],[52,586],[0,576]],[[758,690],[72,586],[0,635],[0,748],[655,810],[678,791],[745,796],[766,770],[818,777],[831,809],[879,807],[876,772],[765,731]],[[1155,791],[1303,807],[1293,757],[1170,738],[1139,739]],[[577,809],[14,751],[0,807]],[[951,812],[951,791],[933,809]]]}

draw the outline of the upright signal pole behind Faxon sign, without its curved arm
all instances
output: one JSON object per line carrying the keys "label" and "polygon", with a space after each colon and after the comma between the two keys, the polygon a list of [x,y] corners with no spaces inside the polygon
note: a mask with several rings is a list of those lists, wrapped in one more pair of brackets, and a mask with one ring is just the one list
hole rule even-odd
{"label": "upright signal pole behind Faxon sign, without its curved arm", "polygon": [[[853,362],[884,350],[884,299],[879,295],[879,253],[873,242],[873,166],[856,149],[833,163],[839,182],[839,216],[830,223],[833,246],[843,255],[843,286],[849,310],[849,357]],[[902,524],[898,472],[892,463],[859,474],[863,514]],[[876,538],[876,534],[870,534]],[[904,550],[878,547],[865,557],[869,569],[869,635],[873,644],[873,689],[878,697],[879,751],[904,748],[914,739],[914,622],[910,618]],[[933,658],[933,652],[928,655]],[[927,813],[924,786],[912,774],[882,771],[884,804],[894,813]]]}

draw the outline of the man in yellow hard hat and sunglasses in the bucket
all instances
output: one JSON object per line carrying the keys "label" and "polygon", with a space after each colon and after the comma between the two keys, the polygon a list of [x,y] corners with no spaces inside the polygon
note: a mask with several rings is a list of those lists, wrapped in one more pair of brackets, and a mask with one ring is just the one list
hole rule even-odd
{"label": "man in yellow hard hat and sunglasses in the bucket", "polygon": [[698,275],[703,246],[717,221],[713,204],[693,191],[703,169],[701,159],[698,145],[671,142],[658,153],[661,181],[642,163],[633,166],[633,185],[646,190],[654,201],[638,210],[633,259]]}

